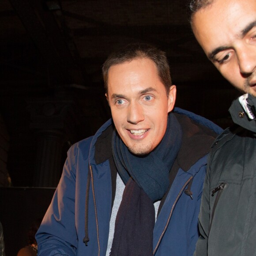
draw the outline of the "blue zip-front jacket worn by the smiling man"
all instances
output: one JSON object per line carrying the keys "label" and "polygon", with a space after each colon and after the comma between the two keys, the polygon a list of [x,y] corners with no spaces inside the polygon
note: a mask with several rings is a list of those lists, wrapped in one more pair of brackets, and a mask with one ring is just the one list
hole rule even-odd
{"label": "blue zip-front jacket worn by the smiling man", "polygon": [[[177,108],[174,112],[188,117],[199,128],[209,128],[209,131],[217,134],[222,132],[221,128],[203,117]],[[69,149],[60,183],[36,235],[38,256],[105,256],[113,200],[112,181],[109,160],[96,164],[94,155],[98,137],[110,125],[112,120],[107,121],[95,136],[84,139]],[[186,157],[194,154],[194,151],[200,151],[197,144],[194,143],[192,150],[186,152]],[[109,150],[111,151],[110,148]],[[184,171],[181,167],[178,169],[154,226],[155,256],[193,255],[199,237],[198,214],[206,163],[207,154],[204,154],[188,170]],[[87,209],[90,241],[85,246],[83,238],[88,170],[91,172]],[[193,199],[184,193],[191,180]]]}

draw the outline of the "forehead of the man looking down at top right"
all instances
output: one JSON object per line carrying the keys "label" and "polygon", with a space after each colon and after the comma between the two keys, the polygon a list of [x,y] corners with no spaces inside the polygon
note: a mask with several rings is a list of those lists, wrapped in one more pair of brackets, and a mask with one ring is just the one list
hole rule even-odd
{"label": "forehead of the man looking down at top right", "polygon": [[192,30],[206,53],[232,46],[243,30],[256,20],[256,0],[215,0],[193,16]]}

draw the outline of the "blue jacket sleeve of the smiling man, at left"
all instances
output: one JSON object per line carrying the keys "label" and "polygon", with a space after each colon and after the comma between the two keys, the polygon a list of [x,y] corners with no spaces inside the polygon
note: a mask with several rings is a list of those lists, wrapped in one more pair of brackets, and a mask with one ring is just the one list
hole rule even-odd
{"label": "blue jacket sleeve of the smiling man, at left", "polygon": [[75,256],[75,156],[77,146],[68,151],[60,183],[36,234],[38,256]]}

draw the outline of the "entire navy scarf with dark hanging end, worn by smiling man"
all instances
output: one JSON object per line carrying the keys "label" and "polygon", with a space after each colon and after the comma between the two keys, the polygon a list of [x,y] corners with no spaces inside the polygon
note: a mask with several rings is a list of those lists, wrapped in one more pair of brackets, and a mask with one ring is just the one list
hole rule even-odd
{"label": "entire navy scarf with dark hanging end, worn by smiling man", "polygon": [[170,113],[166,133],[159,145],[145,156],[128,151],[116,131],[113,158],[125,188],[115,222],[110,256],[152,256],[155,211],[169,187],[169,171],[181,147],[182,130]]}

